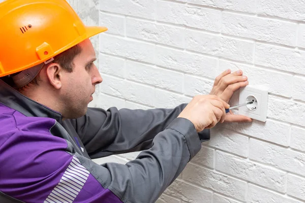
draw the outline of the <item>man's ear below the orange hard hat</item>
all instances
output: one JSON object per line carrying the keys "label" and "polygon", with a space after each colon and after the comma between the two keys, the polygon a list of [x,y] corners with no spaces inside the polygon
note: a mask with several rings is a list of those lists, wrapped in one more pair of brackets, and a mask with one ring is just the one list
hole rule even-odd
{"label": "man's ear below the orange hard hat", "polygon": [[62,87],[63,71],[64,70],[58,63],[51,63],[46,68],[49,82],[55,89],[60,89]]}

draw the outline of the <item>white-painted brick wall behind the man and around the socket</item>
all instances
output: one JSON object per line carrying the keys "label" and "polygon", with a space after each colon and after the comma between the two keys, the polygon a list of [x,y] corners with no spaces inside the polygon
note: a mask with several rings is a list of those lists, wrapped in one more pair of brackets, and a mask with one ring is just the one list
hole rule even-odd
{"label": "white-painted brick wall behind the man and around the socket", "polygon": [[158,203],[305,202],[305,0],[100,0],[99,7],[109,30],[100,35],[104,82],[93,106],[171,108],[208,94],[228,68],[269,89],[267,122],[212,129]]}

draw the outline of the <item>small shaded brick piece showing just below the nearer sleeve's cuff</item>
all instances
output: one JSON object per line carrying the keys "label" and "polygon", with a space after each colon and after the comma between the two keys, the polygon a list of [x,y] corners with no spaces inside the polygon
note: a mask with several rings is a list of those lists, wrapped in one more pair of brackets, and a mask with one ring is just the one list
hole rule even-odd
{"label": "small shaded brick piece showing just below the nearer sleeve's cuff", "polygon": [[198,154],[191,160],[191,163],[214,168],[214,152],[214,149],[202,146]]}

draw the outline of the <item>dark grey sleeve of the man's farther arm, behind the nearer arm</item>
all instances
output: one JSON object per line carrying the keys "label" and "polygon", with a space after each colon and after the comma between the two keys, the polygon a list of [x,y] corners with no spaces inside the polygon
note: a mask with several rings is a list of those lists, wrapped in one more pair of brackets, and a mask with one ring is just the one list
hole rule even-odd
{"label": "dark grey sleeve of the man's farther arm, behind the nearer arm", "polygon": [[[89,156],[99,158],[111,154],[149,149],[155,136],[163,131],[186,107],[174,109],[130,110],[88,108],[85,116],[72,120]],[[209,130],[198,133],[209,140]]]}

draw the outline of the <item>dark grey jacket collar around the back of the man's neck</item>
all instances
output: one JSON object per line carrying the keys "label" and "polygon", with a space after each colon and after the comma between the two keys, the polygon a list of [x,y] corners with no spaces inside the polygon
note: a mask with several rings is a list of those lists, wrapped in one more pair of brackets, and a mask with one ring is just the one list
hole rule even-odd
{"label": "dark grey jacket collar around the back of the man's neck", "polygon": [[53,118],[62,123],[63,116],[24,96],[0,79],[0,103],[28,117]]}

